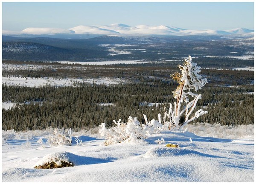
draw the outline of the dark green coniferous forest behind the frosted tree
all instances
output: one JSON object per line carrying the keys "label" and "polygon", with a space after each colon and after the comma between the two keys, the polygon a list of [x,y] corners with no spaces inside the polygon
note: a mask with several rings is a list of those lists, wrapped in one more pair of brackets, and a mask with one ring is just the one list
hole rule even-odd
{"label": "dark green coniferous forest behind the frosted tree", "polygon": [[[86,73],[99,69],[96,66],[79,67],[87,68]],[[172,91],[177,87],[169,74],[177,68],[154,64],[148,68],[145,65],[119,65],[114,69],[115,72],[112,69],[113,66],[105,67],[103,72],[95,72],[95,76],[115,75],[130,79],[130,82],[39,88],[3,84],[2,101],[15,102],[17,105],[9,110],[2,109],[2,129],[21,131],[71,127],[73,130],[80,130],[96,127],[103,122],[111,126],[114,119],[125,122],[129,116],[135,116],[143,122],[143,114],[148,119],[157,119],[158,113],[163,116],[168,111],[169,103],[174,101]],[[12,72],[3,71],[3,76],[12,75]],[[31,77],[31,74],[34,75],[32,77],[43,77],[47,71],[16,73],[23,74],[23,77]],[[64,74],[68,75],[67,71],[61,69],[52,73],[52,76],[66,77]],[[199,117],[196,122],[229,126],[254,123],[253,71],[202,69],[201,74],[209,83],[198,91],[202,94],[202,99],[198,101],[197,108],[204,108],[208,114]],[[47,75],[51,76],[51,73]]]}

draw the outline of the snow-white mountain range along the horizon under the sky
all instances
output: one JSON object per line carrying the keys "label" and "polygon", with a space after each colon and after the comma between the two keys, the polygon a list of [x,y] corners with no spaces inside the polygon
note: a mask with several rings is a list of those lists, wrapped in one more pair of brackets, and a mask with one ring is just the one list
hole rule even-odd
{"label": "snow-white mountain range along the horizon under the sky", "polygon": [[[236,28],[226,31],[221,30],[186,30],[166,25],[136,25],[125,24],[111,25],[79,25],[73,28],[26,28],[15,34],[99,34],[99,35],[233,35],[254,33],[254,30],[246,28]],[[3,30],[3,34],[14,34],[13,31]]]}

